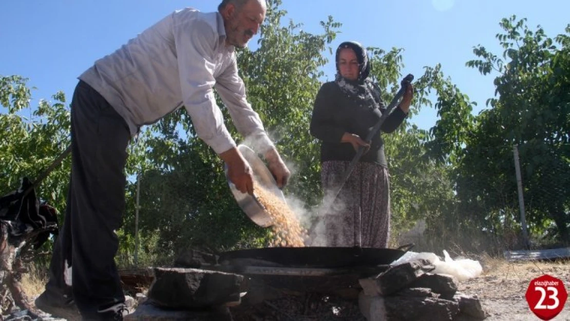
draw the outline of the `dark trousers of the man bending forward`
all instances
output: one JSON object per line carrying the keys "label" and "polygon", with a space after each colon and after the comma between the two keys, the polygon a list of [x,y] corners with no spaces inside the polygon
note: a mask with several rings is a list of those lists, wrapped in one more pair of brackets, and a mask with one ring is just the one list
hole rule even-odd
{"label": "dark trousers of the man bending forward", "polygon": [[[71,180],[47,291],[72,295],[84,318],[124,302],[115,254],[125,208],[124,167],[131,135],[123,117],[87,83],[71,101]],[[64,280],[72,269],[71,288]]]}

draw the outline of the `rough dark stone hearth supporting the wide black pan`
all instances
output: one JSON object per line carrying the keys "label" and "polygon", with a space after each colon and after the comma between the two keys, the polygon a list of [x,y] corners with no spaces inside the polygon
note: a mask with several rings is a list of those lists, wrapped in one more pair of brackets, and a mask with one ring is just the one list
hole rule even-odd
{"label": "rough dark stone hearth supporting the wide black pan", "polygon": [[148,299],[125,320],[439,321],[486,318],[476,296],[457,292],[429,261],[351,269],[271,262],[224,265],[190,251],[182,267],[154,269]]}

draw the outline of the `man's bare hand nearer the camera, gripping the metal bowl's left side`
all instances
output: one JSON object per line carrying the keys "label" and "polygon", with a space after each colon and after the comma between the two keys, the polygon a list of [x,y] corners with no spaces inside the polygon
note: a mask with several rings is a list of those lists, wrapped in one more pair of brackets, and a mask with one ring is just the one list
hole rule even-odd
{"label": "man's bare hand nearer the camera, gripping the metal bowl's left side", "polygon": [[253,194],[253,175],[251,167],[237,148],[231,148],[219,155],[226,162],[227,176],[242,193]]}

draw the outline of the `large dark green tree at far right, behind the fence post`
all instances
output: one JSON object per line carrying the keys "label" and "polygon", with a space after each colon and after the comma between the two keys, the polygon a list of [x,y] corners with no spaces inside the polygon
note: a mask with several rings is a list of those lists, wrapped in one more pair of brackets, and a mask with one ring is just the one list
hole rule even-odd
{"label": "large dark green tree at far right, behind the fence post", "polygon": [[[530,30],[526,19],[512,16],[499,25],[504,31],[496,35],[504,49],[502,58],[477,46],[474,53],[479,59],[467,62],[483,75],[497,75],[498,98],[487,101],[491,109],[478,116],[467,143],[461,188],[465,193],[460,197],[477,198],[494,209],[506,203],[515,206],[512,147],[516,145],[531,230],[543,234],[548,222],[554,222],[559,240],[568,243],[570,25],[554,40],[540,26]],[[474,190],[469,185],[484,188]]]}

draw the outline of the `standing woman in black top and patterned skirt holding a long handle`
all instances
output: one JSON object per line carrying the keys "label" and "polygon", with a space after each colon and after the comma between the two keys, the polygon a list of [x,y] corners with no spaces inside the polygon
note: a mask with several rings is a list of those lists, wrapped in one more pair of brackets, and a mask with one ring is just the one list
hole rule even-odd
{"label": "standing woman in black top and patterned skirt holding a long handle", "polygon": [[336,190],[361,146],[367,151],[345,182],[335,206],[331,206],[335,210],[325,214],[327,246],[387,247],[389,175],[381,132],[393,132],[408,115],[413,87],[409,84],[400,105],[367,144],[364,139],[386,112],[386,105],[380,87],[368,79],[366,49],[357,42],[341,43],[336,50],[336,70],[335,81],[321,86],[311,119],[311,135],[321,141],[321,183],[325,192]]}

